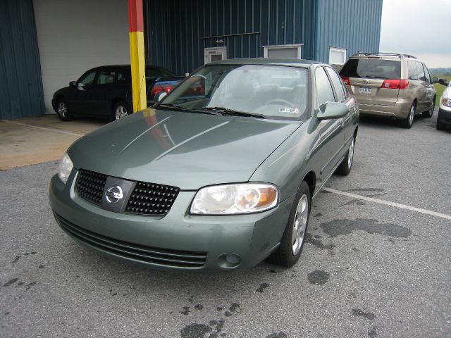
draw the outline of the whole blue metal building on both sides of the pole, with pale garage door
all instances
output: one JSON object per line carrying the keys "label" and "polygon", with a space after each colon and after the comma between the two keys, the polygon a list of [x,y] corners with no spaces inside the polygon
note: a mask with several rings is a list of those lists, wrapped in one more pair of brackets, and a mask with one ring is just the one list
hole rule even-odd
{"label": "whole blue metal building on both sides of the pole, with pale garage door", "polygon": [[[130,63],[127,1],[0,0],[0,120],[54,113],[56,89]],[[378,51],[383,0],[143,1],[146,61],[178,75],[221,58]]]}

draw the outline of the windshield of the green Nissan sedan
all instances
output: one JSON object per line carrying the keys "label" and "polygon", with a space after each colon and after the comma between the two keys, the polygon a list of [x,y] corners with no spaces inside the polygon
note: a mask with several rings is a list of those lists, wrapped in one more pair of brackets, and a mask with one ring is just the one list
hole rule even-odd
{"label": "windshield of the green Nissan sedan", "polygon": [[175,88],[160,106],[305,120],[307,97],[307,69],[304,68],[207,65]]}

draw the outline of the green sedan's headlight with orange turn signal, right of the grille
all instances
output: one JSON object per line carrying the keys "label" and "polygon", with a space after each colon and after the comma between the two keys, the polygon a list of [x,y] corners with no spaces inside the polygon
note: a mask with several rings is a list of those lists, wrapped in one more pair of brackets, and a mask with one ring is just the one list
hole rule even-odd
{"label": "green sedan's headlight with orange turn signal, right of the grille", "polygon": [[233,215],[256,213],[277,205],[278,190],[271,184],[225,184],[205,187],[197,192],[190,213]]}

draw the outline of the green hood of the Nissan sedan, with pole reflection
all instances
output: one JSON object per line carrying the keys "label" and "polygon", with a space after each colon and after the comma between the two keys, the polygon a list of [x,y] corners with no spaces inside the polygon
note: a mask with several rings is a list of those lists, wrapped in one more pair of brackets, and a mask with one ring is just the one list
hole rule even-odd
{"label": "green hood of the Nissan sedan, with pole reflection", "polygon": [[299,123],[147,108],[82,137],[75,168],[195,190],[246,182]]}

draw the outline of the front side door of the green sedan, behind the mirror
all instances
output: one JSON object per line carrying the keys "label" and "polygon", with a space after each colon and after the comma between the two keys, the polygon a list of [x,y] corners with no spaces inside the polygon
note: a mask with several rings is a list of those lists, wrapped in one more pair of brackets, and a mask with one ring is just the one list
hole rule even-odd
{"label": "front side door of the green sedan, behind the mirror", "polygon": [[[330,79],[323,67],[315,70],[316,104],[319,110],[328,102],[335,102],[335,94]],[[343,118],[321,120],[319,122],[319,144],[321,146],[321,170],[319,179],[321,182],[332,175],[345,149],[345,129],[342,125]]]}

